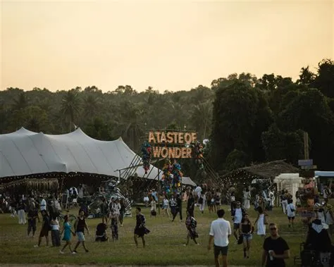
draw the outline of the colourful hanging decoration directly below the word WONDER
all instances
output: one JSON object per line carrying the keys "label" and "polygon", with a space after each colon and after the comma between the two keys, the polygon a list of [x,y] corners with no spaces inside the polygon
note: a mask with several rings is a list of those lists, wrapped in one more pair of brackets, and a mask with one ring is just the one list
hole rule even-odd
{"label": "colourful hanging decoration directly below the word WONDER", "polygon": [[162,171],[163,194],[171,196],[171,194],[180,193],[183,177],[180,163],[174,160],[172,164],[170,159],[166,159]]}

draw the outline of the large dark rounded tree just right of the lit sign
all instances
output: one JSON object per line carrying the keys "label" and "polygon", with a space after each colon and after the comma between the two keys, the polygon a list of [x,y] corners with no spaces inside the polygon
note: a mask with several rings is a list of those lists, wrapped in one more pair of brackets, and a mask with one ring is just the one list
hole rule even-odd
{"label": "large dark rounded tree just right of the lit sign", "polygon": [[259,111],[256,89],[243,82],[235,81],[228,87],[216,89],[211,131],[212,159],[216,168],[223,168],[226,156],[237,149],[251,150],[252,138]]}

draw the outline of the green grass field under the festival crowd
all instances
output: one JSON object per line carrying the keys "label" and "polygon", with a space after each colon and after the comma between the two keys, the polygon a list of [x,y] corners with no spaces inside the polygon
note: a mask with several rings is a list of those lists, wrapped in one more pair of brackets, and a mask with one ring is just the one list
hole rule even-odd
{"label": "green grass field under the festival crowd", "polygon": [[[223,206],[227,211],[227,206]],[[78,254],[70,254],[68,248],[66,254],[59,254],[59,248],[46,247],[45,239],[42,245],[35,248],[37,237],[41,227],[37,223],[35,238],[27,237],[27,225],[18,225],[18,219],[12,218],[9,214],[0,214],[0,263],[50,263],[50,264],[115,264],[115,265],[213,265],[213,252],[208,252],[206,247],[209,239],[209,227],[216,214],[209,213],[206,209],[204,214],[199,213],[198,207],[195,210],[197,218],[197,231],[199,233],[199,246],[190,244],[184,247],[187,231],[185,219],[180,223],[179,217],[175,222],[168,221],[168,218],[157,216],[149,218],[149,208],[142,209],[147,218],[147,228],[151,230],[146,235],[147,247],[141,246],[136,249],[133,242],[133,229],[135,227],[135,216],[125,218],[124,227],[119,228],[118,242],[94,242],[95,228],[101,219],[88,219],[90,235],[86,235],[88,253],[82,247],[78,248]],[[77,213],[76,210],[70,213]],[[185,209],[183,209],[185,213]],[[249,211],[252,222],[256,219],[256,213]],[[132,210],[135,214],[135,210]],[[225,214],[230,220],[230,213]],[[306,232],[302,229],[302,223],[296,218],[295,229],[287,228],[287,218],[280,208],[269,212],[269,222],[278,223],[280,235],[285,238],[291,249],[291,259],[287,266],[294,266],[293,257],[299,256],[299,244],[306,238]],[[268,229],[268,227],[267,227]],[[267,230],[268,232],[268,230]],[[108,236],[111,237],[110,228]],[[73,237],[72,242],[76,242]],[[50,238],[51,240],[51,238]],[[50,242],[51,243],[51,242]],[[242,245],[235,244],[234,238],[230,239],[228,263],[240,266],[259,266],[261,259],[262,240],[254,234],[250,259],[243,259]]]}

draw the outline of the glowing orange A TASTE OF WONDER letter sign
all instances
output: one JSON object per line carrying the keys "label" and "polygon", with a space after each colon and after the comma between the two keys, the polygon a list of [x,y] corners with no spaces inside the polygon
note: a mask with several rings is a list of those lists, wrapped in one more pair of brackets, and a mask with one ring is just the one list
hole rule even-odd
{"label": "glowing orange A TASTE OF WONDER letter sign", "polygon": [[[197,142],[196,132],[149,132],[149,144],[154,158],[190,159],[190,144]],[[182,147],[188,145],[189,147]]]}

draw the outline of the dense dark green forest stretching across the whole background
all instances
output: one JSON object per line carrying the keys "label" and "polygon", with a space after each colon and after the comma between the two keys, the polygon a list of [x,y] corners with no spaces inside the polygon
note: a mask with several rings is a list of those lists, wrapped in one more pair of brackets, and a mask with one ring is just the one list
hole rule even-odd
{"label": "dense dark green forest stretching across the whole background", "polygon": [[[15,86],[15,85],[13,85]],[[138,151],[151,129],[195,130],[209,139],[206,159],[216,171],[251,163],[304,158],[304,132],[309,155],[320,170],[334,168],[334,64],[318,63],[316,73],[300,70],[290,77],[236,73],[211,87],[160,93],[137,92],[120,85],[103,93],[93,86],[50,92],[46,88],[10,87],[0,92],[0,133],[25,127],[62,134],[75,127],[95,139],[124,141]],[[188,89],[188,88],[185,88]],[[185,163],[190,172],[190,163]]]}

